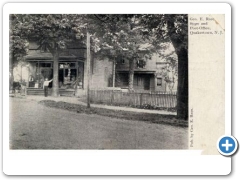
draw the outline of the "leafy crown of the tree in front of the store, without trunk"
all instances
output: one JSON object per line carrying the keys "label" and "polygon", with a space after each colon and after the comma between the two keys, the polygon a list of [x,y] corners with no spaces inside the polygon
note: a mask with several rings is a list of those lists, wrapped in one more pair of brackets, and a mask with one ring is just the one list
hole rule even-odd
{"label": "leafy crown of the tree in front of the store, without trunk", "polygon": [[69,42],[84,37],[83,15],[34,14],[14,15],[15,31],[22,39],[33,39],[51,53],[64,49]]}

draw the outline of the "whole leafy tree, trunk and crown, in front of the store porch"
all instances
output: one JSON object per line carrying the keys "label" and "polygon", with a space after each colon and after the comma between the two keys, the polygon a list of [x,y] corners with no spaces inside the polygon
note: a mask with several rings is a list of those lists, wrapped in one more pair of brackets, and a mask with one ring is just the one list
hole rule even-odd
{"label": "whole leafy tree, trunk and crown, in front of the store porch", "polygon": [[[16,14],[12,17],[14,17],[14,23],[10,29],[19,37],[19,41],[34,40],[39,44],[39,48],[43,48],[52,54],[54,69],[53,96],[58,96],[59,53],[67,47],[68,43],[73,41],[79,41],[80,43],[80,40],[84,40],[87,28],[86,16],[74,14]],[[24,47],[18,47],[19,45],[16,42],[13,44],[15,49],[23,51]],[[14,51],[11,50],[11,52]]]}

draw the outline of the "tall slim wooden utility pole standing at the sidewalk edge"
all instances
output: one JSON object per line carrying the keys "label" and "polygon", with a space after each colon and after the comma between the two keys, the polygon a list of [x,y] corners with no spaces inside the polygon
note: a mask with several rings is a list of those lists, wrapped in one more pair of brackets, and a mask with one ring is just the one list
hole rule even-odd
{"label": "tall slim wooden utility pole standing at the sidewalk edge", "polygon": [[90,62],[91,62],[91,55],[90,55],[90,35],[87,32],[87,108],[90,108]]}

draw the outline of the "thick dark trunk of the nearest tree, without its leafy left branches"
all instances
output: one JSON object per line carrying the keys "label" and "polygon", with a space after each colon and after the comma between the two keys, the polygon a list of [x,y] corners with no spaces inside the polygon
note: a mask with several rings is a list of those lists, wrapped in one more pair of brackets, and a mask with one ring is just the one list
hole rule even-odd
{"label": "thick dark trunk of the nearest tree, without its leafy left branches", "polygon": [[177,116],[188,119],[188,16],[167,16],[168,36],[178,56]]}

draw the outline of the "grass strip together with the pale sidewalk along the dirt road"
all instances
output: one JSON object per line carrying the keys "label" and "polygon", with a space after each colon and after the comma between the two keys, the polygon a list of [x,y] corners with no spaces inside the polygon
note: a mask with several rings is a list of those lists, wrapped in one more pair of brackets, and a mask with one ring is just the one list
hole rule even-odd
{"label": "grass strip together with the pale sidewalk along the dirt road", "polygon": [[21,98],[37,101],[39,104],[47,107],[63,109],[77,113],[97,114],[111,118],[188,127],[188,121],[177,119],[174,112],[136,109],[130,107],[116,107],[102,104],[91,104],[91,108],[88,109],[86,107],[86,103],[82,102],[80,98],[76,97],[21,96]]}

